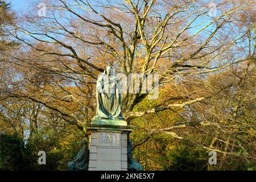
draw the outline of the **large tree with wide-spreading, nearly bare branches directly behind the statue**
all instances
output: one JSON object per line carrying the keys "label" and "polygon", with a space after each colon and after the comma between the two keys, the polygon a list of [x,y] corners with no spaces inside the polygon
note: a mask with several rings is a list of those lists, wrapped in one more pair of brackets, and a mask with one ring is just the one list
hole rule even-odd
{"label": "large tree with wide-spreading, nearly bare branches directly behind the statue", "polygon": [[[158,73],[160,90],[168,86],[172,92],[159,104],[137,110],[136,106],[150,94],[142,92],[139,82],[139,93],[124,93],[122,97],[127,123],[167,110],[184,109],[181,118],[185,119],[183,123],[151,127],[133,148],[159,133],[188,140],[174,131],[218,127],[214,121],[202,120],[204,115],[199,115],[198,105],[211,110],[204,103],[227,94],[226,90],[236,84],[214,87],[207,78],[255,60],[253,21],[246,21],[244,26],[240,19],[251,13],[251,3],[214,1],[214,14],[205,1],[46,1],[46,16],[32,11],[34,14],[24,15],[9,31],[23,45],[8,60],[22,76],[15,84],[7,84],[13,85],[11,88],[1,88],[2,98],[35,102],[84,129],[84,122],[89,122],[95,111],[93,88],[97,75],[106,64],[113,64],[127,77],[130,73],[146,77]],[[245,46],[245,40],[250,47]],[[73,112],[67,106],[80,108]],[[207,150],[234,153],[204,146],[195,139],[189,141]]]}

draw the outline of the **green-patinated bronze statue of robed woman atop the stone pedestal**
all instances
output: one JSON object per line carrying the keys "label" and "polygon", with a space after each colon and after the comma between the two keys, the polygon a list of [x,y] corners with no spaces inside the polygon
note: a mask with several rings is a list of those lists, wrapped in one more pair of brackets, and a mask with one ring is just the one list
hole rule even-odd
{"label": "green-patinated bronze statue of robed woman atop the stone pedestal", "polygon": [[120,84],[107,66],[104,73],[98,77],[96,85],[97,110],[95,118],[122,119]]}

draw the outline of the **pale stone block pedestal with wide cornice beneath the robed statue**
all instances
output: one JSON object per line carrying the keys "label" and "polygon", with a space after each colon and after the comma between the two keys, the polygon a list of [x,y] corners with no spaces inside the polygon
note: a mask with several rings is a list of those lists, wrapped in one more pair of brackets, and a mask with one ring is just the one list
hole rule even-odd
{"label": "pale stone block pedestal with wide cornice beneath the robed statue", "polygon": [[92,119],[86,124],[89,139],[89,171],[127,171],[127,134],[134,126],[125,121]]}

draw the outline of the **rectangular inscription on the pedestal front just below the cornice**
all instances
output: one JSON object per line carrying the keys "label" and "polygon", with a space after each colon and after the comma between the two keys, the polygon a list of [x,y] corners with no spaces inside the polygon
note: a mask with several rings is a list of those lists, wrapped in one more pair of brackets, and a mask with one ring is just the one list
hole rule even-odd
{"label": "rectangular inscription on the pedestal front just below the cornice", "polygon": [[99,133],[100,146],[114,146],[119,147],[120,133],[103,132]]}

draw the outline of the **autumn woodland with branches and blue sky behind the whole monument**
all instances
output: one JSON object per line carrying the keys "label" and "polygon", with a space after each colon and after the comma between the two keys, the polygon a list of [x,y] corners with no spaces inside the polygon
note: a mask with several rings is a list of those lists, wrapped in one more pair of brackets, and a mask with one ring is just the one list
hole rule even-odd
{"label": "autumn woodland with branches and blue sky behind the whole monument", "polygon": [[122,95],[144,169],[256,170],[255,7],[49,0],[16,11],[0,1],[0,169],[66,170],[110,63],[126,75],[159,74],[157,100]]}

